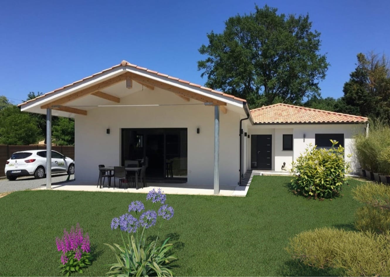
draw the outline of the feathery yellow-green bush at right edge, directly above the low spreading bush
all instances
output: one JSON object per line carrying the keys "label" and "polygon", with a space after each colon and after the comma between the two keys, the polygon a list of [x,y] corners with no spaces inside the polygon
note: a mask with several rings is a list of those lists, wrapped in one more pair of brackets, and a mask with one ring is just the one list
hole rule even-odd
{"label": "feathery yellow-green bush at right edge, directly above the low spreading bush", "polygon": [[352,193],[353,198],[365,204],[356,211],[356,229],[375,233],[390,231],[390,187],[367,182]]}

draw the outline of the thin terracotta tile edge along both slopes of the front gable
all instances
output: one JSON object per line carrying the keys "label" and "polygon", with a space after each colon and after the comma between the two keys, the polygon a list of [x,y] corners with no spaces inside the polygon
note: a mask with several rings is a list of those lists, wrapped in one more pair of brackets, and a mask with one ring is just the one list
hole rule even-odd
{"label": "thin terracotta tile edge along both slopes of the front gable", "polygon": [[103,73],[103,72],[106,72],[106,71],[108,71],[108,70],[111,70],[111,69],[113,69],[113,68],[115,68],[115,67],[125,67],[125,66],[134,67],[134,68],[137,68],[137,69],[140,69],[140,70],[144,70],[144,71],[149,72],[149,73],[153,73],[153,74],[156,74],[156,75],[159,75],[159,76],[162,76],[162,77],[166,77],[166,78],[168,78],[168,79],[172,79],[172,80],[175,80],[175,81],[178,81],[178,82],[182,82],[182,83],[184,83],[184,84],[189,84],[190,86],[194,86],[194,87],[196,87],[196,88],[205,89],[205,90],[211,91],[211,92],[216,93],[216,94],[219,94],[219,95],[227,96],[227,97],[233,98],[233,99],[235,99],[235,100],[239,100],[239,101],[246,102],[245,99],[238,98],[238,97],[236,97],[236,96],[233,96],[233,95],[230,95],[230,94],[227,94],[227,93],[223,93],[223,92],[221,92],[221,91],[216,91],[216,90],[211,89],[211,88],[206,88],[206,87],[204,87],[204,86],[201,86],[201,85],[198,85],[198,84],[194,84],[194,83],[191,83],[191,82],[189,82],[189,81],[185,81],[185,80],[179,79],[179,78],[177,78],[177,77],[172,77],[172,76],[170,76],[170,75],[163,74],[163,73],[160,73],[160,72],[157,72],[157,71],[154,71],[154,70],[150,70],[150,69],[147,69],[147,68],[145,68],[145,67],[140,67],[140,66],[138,66],[138,65],[133,65],[132,63],[129,63],[128,61],[123,60],[119,65],[114,65],[113,67],[110,67],[110,68],[107,68],[107,69],[102,70],[102,71],[100,71],[100,72],[97,72],[97,73],[95,73],[95,74],[93,74],[93,75],[90,75],[90,76],[88,76],[88,77],[85,77],[85,78],[83,78],[83,79],[81,79],[81,80],[78,80],[78,81],[76,81],[76,82],[73,82],[73,83],[71,83],[71,84],[68,84],[68,85],[66,85],[66,86],[63,86],[62,88],[58,88],[58,89],[55,89],[55,90],[50,91],[50,92],[48,92],[48,93],[45,93],[44,95],[38,96],[38,97],[36,97],[36,98],[34,98],[34,99],[31,99],[31,100],[28,100],[28,101],[26,101],[26,102],[23,102],[23,103],[19,104],[18,106],[23,105],[23,104],[28,103],[28,102],[31,102],[31,101],[33,101],[33,100],[35,100],[35,99],[41,98],[41,97],[43,97],[43,96],[46,96],[46,95],[48,95],[48,94],[55,93],[55,92],[57,92],[57,91],[59,91],[59,90],[61,90],[61,89],[67,88],[67,87],[69,87],[69,86],[73,86],[74,84],[77,84],[77,83],[79,83],[79,82],[82,82],[82,81],[85,81],[85,80],[87,80],[87,79],[90,79],[90,78],[92,78],[92,77],[94,77],[94,76],[96,76],[96,75],[99,75],[99,74],[101,74],[101,73]]}

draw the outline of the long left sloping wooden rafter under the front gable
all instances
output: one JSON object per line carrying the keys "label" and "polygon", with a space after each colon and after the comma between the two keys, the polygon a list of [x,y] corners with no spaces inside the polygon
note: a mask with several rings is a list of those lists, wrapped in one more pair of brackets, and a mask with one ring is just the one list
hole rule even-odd
{"label": "long left sloping wooden rafter under the front gable", "polygon": [[126,72],[122,75],[119,75],[119,76],[113,77],[111,79],[108,79],[106,81],[100,82],[99,84],[95,84],[93,86],[90,86],[89,88],[85,88],[85,89],[82,89],[82,90],[77,91],[75,93],[72,93],[71,95],[66,95],[60,99],[53,100],[53,102],[42,105],[41,109],[47,109],[47,108],[51,108],[52,106],[66,104],[66,103],[74,101],[78,98],[82,98],[84,96],[90,95],[96,91],[100,91],[103,88],[112,86],[113,84],[117,84],[119,82],[122,82],[122,81],[126,80],[129,76],[131,76],[131,73]]}

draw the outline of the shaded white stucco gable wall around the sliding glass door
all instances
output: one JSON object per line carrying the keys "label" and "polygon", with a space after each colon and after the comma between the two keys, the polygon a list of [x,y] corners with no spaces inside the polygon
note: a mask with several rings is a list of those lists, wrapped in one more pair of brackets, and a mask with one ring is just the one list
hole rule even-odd
{"label": "shaded white stucco gable wall around the sliding glass door", "polygon": [[[189,104],[174,93],[144,89],[121,98],[126,104]],[[220,112],[220,185],[239,179],[240,115]],[[110,128],[110,134],[106,129]],[[214,181],[214,107],[177,105],[159,107],[96,107],[75,117],[76,179],[97,182],[97,165],[120,165],[121,128],[188,128],[188,184]],[[200,128],[200,133],[196,129]]]}

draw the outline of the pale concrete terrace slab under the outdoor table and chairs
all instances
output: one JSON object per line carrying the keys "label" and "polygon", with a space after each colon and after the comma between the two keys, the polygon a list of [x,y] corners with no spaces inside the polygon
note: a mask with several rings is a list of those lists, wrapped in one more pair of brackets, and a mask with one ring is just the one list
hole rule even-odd
{"label": "pale concrete terrace slab under the outdoor table and chairs", "polygon": [[[167,183],[149,183],[145,188],[127,188],[127,184],[122,185],[122,188],[96,187],[96,183],[85,183],[78,181],[69,181],[59,184],[53,184],[52,190],[64,191],[103,191],[103,192],[118,192],[118,193],[149,193],[152,189],[159,189],[166,194],[177,195],[214,195],[214,187],[211,185],[195,186],[189,184],[167,184]],[[246,196],[249,185],[247,186],[220,186],[220,196]],[[46,187],[37,188],[46,189]]]}

